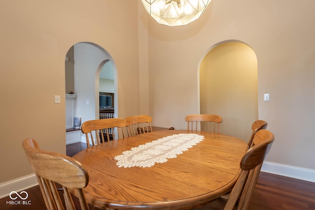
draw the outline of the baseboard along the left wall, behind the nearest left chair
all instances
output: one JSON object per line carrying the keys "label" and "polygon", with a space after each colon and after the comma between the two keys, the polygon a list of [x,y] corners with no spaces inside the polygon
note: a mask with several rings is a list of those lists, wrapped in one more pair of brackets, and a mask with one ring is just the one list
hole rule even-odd
{"label": "baseboard along the left wall, behind the nearest left chair", "polygon": [[0,199],[9,196],[10,192],[20,192],[38,185],[35,174],[0,183]]}

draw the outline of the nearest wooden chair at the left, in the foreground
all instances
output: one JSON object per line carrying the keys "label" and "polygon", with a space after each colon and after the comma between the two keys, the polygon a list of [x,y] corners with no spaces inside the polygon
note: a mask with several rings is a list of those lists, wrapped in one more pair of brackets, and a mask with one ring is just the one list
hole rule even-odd
{"label": "nearest wooden chair at the left, in the foreground", "polygon": [[[89,175],[79,162],[63,154],[40,150],[33,139],[25,139],[22,146],[38,180],[47,210],[64,210],[64,207],[75,210],[68,188],[76,190],[82,210],[90,209],[82,191],[89,183]],[[55,183],[62,185],[64,204]]]}

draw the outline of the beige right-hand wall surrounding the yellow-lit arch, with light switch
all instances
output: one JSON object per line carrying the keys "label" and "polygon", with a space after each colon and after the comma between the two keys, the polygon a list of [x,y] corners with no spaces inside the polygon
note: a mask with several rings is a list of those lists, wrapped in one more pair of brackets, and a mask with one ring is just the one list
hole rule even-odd
{"label": "beige right-hand wall surrounding the yellow-lit arch, with light switch", "polygon": [[[213,0],[186,27],[149,19],[154,122],[186,128],[185,116],[198,111],[201,60],[217,43],[239,40],[257,56],[258,118],[268,121],[276,136],[266,160],[314,170],[314,8],[314,0]],[[263,93],[270,93],[270,102],[263,101]]]}

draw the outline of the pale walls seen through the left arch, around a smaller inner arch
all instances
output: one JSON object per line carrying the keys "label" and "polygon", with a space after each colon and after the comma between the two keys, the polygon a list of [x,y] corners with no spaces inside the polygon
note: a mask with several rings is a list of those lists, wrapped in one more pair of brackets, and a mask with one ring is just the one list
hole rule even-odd
{"label": "pale walls seen through the left arch, around a smaller inner arch", "polygon": [[[102,66],[108,61],[113,70],[113,90],[115,93],[113,101],[118,104],[117,68],[114,60],[105,49],[95,43],[80,42],[69,49],[66,57],[68,59],[65,61],[65,93],[72,90],[77,95],[73,103],[74,117],[81,118],[82,123],[87,120],[98,119],[99,75]],[[69,87],[68,83],[72,85]],[[115,116],[118,116],[117,107],[115,106]],[[83,135],[80,136],[80,140],[81,142],[86,141]]]}

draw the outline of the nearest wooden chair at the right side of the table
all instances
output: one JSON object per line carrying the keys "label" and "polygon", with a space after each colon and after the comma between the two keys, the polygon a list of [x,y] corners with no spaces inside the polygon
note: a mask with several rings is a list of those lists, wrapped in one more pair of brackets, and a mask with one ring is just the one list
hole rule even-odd
{"label": "nearest wooden chair at the right side of the table", "polygon": [[220,197],[193,210],[222,210],[223,208],[224,210],[247,210],[263,160],[274,140],[275,137],[270,131],[264,129],[257,131],[253,138],[252,148],[247,150],[240,161],[242,172],[227,201]]}

